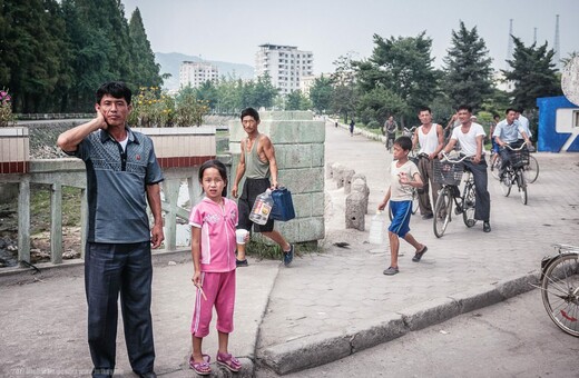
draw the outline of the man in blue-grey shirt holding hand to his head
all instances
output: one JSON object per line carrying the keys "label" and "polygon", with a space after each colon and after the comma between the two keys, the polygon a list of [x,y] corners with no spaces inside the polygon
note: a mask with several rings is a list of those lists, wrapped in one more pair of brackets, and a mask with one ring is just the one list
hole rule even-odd
{"label": "man in blue-grey shirt holding hand to his head", "polygon": [[150,249],[165,239],[163,172],[150,138],[127,125],[131,96],[122,82],[102,84],[97,90],[97,117],[62,132],[57,141],[87,166],[85,290],[92,377],[112,377],[115,371],[119,292],[130,367],[140,377],[156,377]]}

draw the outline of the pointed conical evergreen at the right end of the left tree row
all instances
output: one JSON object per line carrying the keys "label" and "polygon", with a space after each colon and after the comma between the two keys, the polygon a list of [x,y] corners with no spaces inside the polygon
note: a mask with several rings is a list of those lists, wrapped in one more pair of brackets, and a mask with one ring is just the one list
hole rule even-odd
{"label": "pointed conical evergreen at the right end of the left tree row", "polygon": [[133,41],[131,64],[135,77],[131,78],[138,87],[160,87],[160,66],[155,62],[155,53],[150,48],[139,9],[135,9],[129,21],[129,36]]}

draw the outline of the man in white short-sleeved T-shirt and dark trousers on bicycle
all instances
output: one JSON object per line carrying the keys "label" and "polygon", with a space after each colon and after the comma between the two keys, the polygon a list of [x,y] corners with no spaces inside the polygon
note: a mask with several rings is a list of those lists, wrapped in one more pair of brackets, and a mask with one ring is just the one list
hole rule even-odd
{"label": "man in white short-sleeved T-shirt and dark trousers on bicycle", "polygon": [[455,127],[452,130],[449,143],[444,147],[443,151],[449,153],[452,151],[457,142],[460,145],[460,152],[470,157],[471,159],[464,159],[464,166],[472,172],[474,179],[474,189],[477,196],[477,202],[474,203],[474,219],[482,220],[482,230],[484,232],[491,231],[491,225],[489,222],[491,212],[491,198],[489,195],[488,175],[487,175],[487,161],[482,152],[482,141],[487,133],[479,123],[472,122],[472,107],[468,105],[461,105],[459,107],[459,120],[461,121],[460,127]]}

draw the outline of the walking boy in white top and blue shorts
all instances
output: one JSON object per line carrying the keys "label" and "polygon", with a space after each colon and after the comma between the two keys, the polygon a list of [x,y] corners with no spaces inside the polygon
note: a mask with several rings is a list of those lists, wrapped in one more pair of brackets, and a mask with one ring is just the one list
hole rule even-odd
{"label": "walking boy in white top and blue shorts", "polygon": [[412,187],[422,188],[423,182],[419,173],[419,168],[409,160],[409,152],[412,149],[412,140],[409,137],[400,137],[394,140],[394,161],[390,167],[391,185],[386,190],[386,196],[379,205],[379,210],[384,210],[387,201],[392,209],[392,223],[389,227],[390,239],[390,267],[384,270],[384,275],[394,276],[399,272],[398,253],[400,249],[400,238],[406,240],[416,249],[412,261],[419,262],[428,248],[420,243],[410,233],[410,217],[412,216]]}

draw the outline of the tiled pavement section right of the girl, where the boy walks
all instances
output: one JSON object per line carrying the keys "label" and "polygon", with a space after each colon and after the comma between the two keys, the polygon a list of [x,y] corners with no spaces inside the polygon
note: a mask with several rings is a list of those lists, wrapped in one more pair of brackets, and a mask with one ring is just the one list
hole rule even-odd
{"label": "tiled pavement section right of the girl, where the boy walks", "polygon": [[[370,209],[375,209],[387,185],[391,156],[377,141],[350,137],[342,128],[326,127],[325,158],[364,173],[370,187]],[[414,217],[412,233],[429,246],[420,263],[411,262],[412,248],[402,241],[400,273],[382,275],[387,267],[387,245],[369,245],[367,231],[344,230],[343,189],[326,181],[325,252],[296,259],[292,269],[279,271],[269,297],[269,311],[261,326],[257,356],[283,372],[318,364],[363,348],[351,340],[369,340],[366,331],[425,308],[444,307],[460,299],[485,296],[499,288],[511,296],[527,289],[529,273],[553,242],[578,243],[577,182],[579,155],[537,153],[541,166],[538,181],[529,187],[529,205],[518,196],[502,197],[498,181],[489,179],[492,232],[482,225],[468,229],[453,221],[436,239],[432,221]],[[366,230],[370,217],[366,217]],[[350,249],[332,243],[347,241]],[[344,342],[342,342],[344,341]],[[305,347],[316,356],[307,359]],[[349,350],[350,348],[350,350]],[[331,356],[330,356],[331,355]]]}

